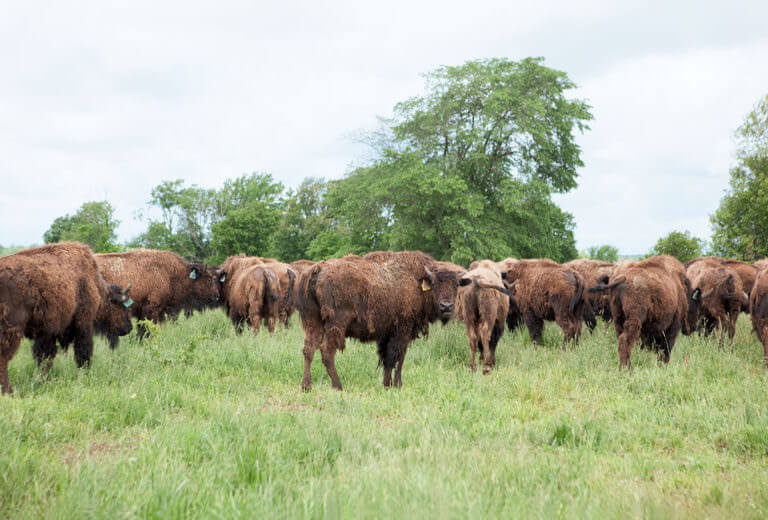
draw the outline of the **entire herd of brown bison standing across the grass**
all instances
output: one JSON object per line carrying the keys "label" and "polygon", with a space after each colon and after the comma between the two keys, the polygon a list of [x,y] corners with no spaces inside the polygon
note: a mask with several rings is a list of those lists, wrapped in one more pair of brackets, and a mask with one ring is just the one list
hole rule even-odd
{"label": "entire herd of brown bison standing across the grass", "polygon": [[[420,251],[378,251],[322,262],[290,264],[232,256],[221,266],[190,263],[169,251],[93,254],[80,243],[50,244],[0,258],[0,387],[11,392],[8,363],[23,337],[32,340],[46,372],[58,351],[73,345],[78,366],[93,352],[93,333],[111,348],[131,331],[131,318],[160,322],[223,307],[238,332],[261,325],[274,332],[298,311],[304,330],[302,387],[312,386],[317,350],[334,388],[341,389],[336,353],[346,338],[375,342],[384,386],[402,384],[410,343],[430,324],[462,321],[470,367],[480,353],[483,373],[496,364],[506,329],[525,324],[534,344],[545,321],[575,348],[582,324],[612,321],[619,366],[630,367],[633,346],[654,350],[661,362],[682,332],[733,342],[741,312],[751,315],[768,366],[768,259],[748,264],[713,256],[685,264],[660,255],[620,264],[579,259],[501,262],[480,260],[468,269]],[[506,325],[506,327],[505,327]],[[141,339],[146,330],[137,325]],[[394,374],[393,374],[394,371]]]}

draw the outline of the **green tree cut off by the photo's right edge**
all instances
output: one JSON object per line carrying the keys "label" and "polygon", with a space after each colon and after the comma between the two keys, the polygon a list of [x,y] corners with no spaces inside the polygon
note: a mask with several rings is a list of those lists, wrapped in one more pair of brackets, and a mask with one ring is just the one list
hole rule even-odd
{"label": "green tree cut off by the photo's right edge", "polygon": [[730,189],[710,217],[715,254],[753,261],[768,256],[768,95],[736,130]]}

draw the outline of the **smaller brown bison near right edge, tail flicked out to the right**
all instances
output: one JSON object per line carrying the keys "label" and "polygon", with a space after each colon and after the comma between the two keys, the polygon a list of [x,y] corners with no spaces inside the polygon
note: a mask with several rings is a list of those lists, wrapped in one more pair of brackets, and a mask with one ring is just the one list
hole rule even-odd
{"label": "smaller brown bison near right edge, tail flicked out to the right", "polygon": [[720,346],[722,347],[725,334],[730,341],[736,334],[736,321],[741,309],[749,306],[749,297],[744,292],[741,277],[729,268],[709,262],[695,262],[686,269],[686,276],[691,287],[701,291],[699,304],[699,320],[703,320],[705,333],[709,335],[716,325],[720,326]]}

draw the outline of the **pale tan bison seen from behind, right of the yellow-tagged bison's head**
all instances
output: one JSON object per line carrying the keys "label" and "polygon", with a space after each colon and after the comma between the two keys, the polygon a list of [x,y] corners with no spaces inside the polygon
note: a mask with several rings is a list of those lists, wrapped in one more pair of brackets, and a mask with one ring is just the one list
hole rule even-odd
{"label": "pale tan bison seen from behind, right of the yellow-tagged bison's head", "polygon": [[460,275],[456,314],[467,327],[469,367],[472,370],[476,370],[475,353],[478,349],[483,374],[496,366],[496,345],[504,333],[509,300],[509,291],[495,267],[477,267]]}

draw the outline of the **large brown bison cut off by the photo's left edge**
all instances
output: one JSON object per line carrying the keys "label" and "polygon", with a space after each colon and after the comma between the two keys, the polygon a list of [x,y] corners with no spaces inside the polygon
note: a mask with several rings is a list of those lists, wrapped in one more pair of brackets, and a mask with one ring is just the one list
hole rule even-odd
{"label": "large brown bison cut off by the photo's left edge", "polygon": [[21,338],[34,341],[44,370],[74,343],[78,367],[90,362],[93,332],[131,331],[128,290],[107,285],[88,246],[63,242],[0,258],[0,388],[11,392],[8,363]]}

